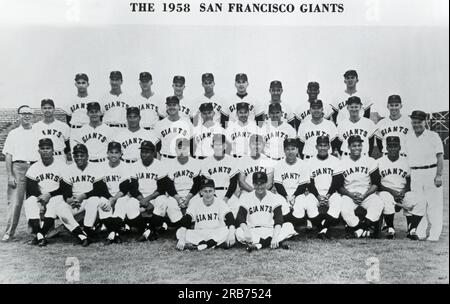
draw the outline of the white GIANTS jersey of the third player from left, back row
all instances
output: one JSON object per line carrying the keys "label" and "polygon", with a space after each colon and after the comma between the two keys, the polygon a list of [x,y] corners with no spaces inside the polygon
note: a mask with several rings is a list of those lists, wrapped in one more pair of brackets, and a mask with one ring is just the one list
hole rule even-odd
{"label": "white GIANTS jersey of the third player from left, back row", "polygon": [[141,94],[135,96],[130,102],[130,106],[138,107],[141,114],[141,127],[154,128],[159,121],[162,111],[165,111],[166,105],[163,104],[163,97],[153,94],[149,98]]}

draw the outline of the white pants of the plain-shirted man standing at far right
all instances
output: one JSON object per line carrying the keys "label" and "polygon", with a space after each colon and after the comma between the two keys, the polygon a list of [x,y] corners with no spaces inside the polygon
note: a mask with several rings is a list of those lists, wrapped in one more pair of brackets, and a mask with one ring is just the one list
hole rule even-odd
{"label": "white pants of the plain-shirted man standing at far right", "polygon": [[417,203],[423,204],[424,217],[417,227],[417,235],[424,239],[430,225],[429,237],[439,239],[442,232],[444,213],[444,186],[436,187],[436,168],[411,170],[411,189],[417,194]]}

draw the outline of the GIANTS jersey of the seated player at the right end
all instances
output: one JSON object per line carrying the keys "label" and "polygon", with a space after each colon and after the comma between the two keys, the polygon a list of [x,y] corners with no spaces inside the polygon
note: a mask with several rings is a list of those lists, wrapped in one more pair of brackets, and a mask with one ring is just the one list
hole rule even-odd
{"label": "GIANTS jersey of the seated player at the right end", "polygon": [[410,175],[408,160],[400,156],[395,162],[387,155],[378,159],[381,184],[395,191],[402,191],[406,186],[406,177]]}

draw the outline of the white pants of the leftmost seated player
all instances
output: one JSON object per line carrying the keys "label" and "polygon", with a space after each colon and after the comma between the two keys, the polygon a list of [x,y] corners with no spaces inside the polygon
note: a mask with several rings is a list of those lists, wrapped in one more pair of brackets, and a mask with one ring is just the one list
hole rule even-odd
{"label": "white pants of the leftmost seated player", "polygon": [[[40,220],[41,208],[43,208],[43,206],[38,202],[36,196],[27,198],[24,203],[27,221]],[[73,231],[78,226],[70,206],[64,201],[62,195],[50,198],[47,205],[45,205],[44,217],[52,219],[59,218],[63,225],[70,231]]]}

